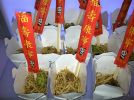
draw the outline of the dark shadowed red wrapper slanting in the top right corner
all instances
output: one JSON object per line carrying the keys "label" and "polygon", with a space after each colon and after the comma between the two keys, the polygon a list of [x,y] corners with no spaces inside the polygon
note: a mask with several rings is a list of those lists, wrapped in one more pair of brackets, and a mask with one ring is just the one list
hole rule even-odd
{"label": "dark shadowed red wrapper slanting in the top right corner", "polygon": [[116,22],[113,25],[113,30],[115,30],[115,28],[118,28],[122,25],[124,25],[124,20],[126,18],[129,6],[131,4],[132,0],[124,0],[122,6],[121,6],[121,10],[119,12],[119,15],[117,17]]}

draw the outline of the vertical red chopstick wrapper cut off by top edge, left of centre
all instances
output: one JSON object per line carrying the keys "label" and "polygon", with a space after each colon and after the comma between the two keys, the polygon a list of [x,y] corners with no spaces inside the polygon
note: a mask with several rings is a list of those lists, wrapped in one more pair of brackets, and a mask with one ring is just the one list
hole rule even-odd
{"label": "vertical red chopstick wrapper cut off by top edge, left of centre", "polygon": [[64,23],[65,0],[56,0],[55,23]]}

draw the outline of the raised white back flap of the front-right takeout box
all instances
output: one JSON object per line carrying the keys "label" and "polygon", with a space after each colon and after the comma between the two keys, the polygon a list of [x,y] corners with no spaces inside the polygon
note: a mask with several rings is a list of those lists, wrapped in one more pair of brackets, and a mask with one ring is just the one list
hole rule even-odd
{"label": "raised white back flap of the front-right takeout box", "polygon": [[117,67],[114,64],[115,55],[116,54],[112,52],[108,52],[95,56],[93,63],[96,68],[96,72],[100,72],[102,74],[113,74]]}

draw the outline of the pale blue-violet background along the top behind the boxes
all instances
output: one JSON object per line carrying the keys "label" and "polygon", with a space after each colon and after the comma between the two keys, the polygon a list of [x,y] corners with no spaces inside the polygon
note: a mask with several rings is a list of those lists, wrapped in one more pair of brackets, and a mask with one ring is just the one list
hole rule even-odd
{"label": "pale blue-violet background along the top behind the boxes", "polygon": [[[52,0],[51,8],[55,9],[55,1]],[[120,8],[123,0],[100,0],[102,6],[102,12],[107,11],[112,13],[116,8]],[[31,11],[34,12],[35,0],[0,0],[0,9],[4,14],[6,22],[8,23],[9,30],[12,26],[12,18],[15,14],[15,11]],[[66,0],[65,9],[76,8],[79,9],[78,0]],[[134,9],[134,0],[132,0],[128,15],[132,13]],[[13,32],[12,32],[13,33]]]}

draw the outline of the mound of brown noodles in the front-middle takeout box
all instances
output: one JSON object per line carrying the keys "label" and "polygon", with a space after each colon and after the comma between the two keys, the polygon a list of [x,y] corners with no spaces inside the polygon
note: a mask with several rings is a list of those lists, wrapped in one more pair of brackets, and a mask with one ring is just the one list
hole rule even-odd
{"label": "mound of brown noodles in the front-middle takeout box", "polygon": [[80,78],[66,68],[56,75],[54,94],[60,95],[70,92],[82,93],[82,85]]}

